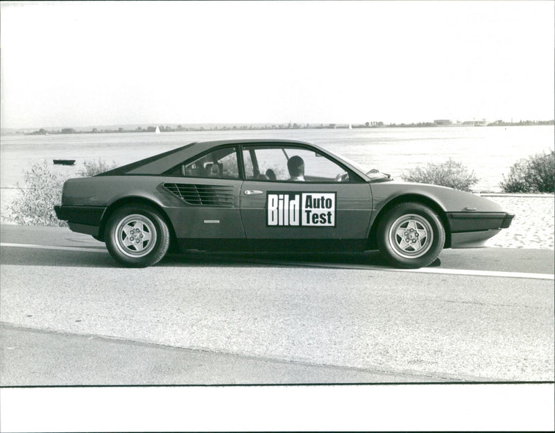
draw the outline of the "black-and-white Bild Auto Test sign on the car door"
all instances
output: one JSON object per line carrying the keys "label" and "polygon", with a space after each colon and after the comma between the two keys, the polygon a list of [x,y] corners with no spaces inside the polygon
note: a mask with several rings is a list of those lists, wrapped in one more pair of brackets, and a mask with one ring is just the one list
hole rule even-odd
{"label": "black-and-white Bild Auto Test sign on the car door", "polygon": [[268,192],[266,226],[335,227],[335,192]]}

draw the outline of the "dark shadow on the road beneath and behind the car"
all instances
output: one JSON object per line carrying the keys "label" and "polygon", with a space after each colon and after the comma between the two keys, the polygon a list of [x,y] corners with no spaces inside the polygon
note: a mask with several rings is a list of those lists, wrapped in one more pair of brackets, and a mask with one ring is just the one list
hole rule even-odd
{"label": "dark shadow on the road beneath and behind the car", "polygon": [[[94,268],[123,268],[110,257],[108,251],[63,251],[34,248],[3,247],[2,265],[16,266],[71,266]],[[438,263],[434,263],[435,266]],[[391,268],[378,251],[366,253],[212,253],[187,251],[168,254],[155,266],[316,266],[363,268],[380,266]]]}

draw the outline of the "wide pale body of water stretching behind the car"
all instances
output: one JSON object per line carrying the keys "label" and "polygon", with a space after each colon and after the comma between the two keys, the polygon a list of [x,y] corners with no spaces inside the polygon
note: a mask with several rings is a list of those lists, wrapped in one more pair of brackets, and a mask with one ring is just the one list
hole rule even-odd
{"label": "wide pale body of water stretching behind the car", "polygon": [[[398,180],[409,169],[452,158],[475,171],[476,191],[499,192],[503,174],[517,160],[554,147],[554,131],[553,126],[490,126],[3,135],[0,186],[22,185],[24,172],[42,160],[53,170],[72,175],[85,160],[101,158],[123,165],[201,140],[278,138],[318,144]],[[53,159],[76,160],[76,164],[54,166]]]}

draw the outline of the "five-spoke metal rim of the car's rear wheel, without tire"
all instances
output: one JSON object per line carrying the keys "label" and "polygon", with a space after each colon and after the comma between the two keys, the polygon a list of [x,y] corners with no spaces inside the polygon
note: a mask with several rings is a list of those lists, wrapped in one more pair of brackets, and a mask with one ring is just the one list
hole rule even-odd
{"label": "five-spoke metal rim of the car's rear wheel, without tire", "polygon": [[129,257],[144,257],[156,244],[156,228],[144,215],[128,215],[119,221],[115,231],[116,246]]}

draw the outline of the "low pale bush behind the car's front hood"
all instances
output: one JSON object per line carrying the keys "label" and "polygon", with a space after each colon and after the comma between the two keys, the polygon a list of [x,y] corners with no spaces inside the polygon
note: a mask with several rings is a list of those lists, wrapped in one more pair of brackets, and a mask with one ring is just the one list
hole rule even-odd
{"label": "low pale bush behind the car's front hood", "polygon": [[474,171],[468,171],[462,162],[456,162],[451,158],[437,164],[429,162],[426,167],[416,167],[408,173],[402,173],[401,178],[407,182],[431,183],[469,192],[470,187],[478,182]]}

